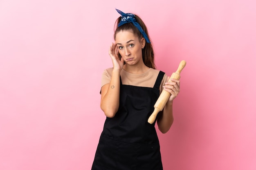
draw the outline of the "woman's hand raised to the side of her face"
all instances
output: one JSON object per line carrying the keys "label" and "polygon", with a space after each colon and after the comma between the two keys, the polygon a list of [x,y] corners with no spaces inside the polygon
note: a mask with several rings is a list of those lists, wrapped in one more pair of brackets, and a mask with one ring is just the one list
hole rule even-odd
{"label": "woman's hand raised to the side of her face", "polygon": [[110,55],[110,57],[112,59],[113,69],[121,71],[124,67],[124,59],[121,58],[121,60],[119,60],[119,57],[118,57],[119,52],[118,52],[116,43],[111,44],[108,54]]}

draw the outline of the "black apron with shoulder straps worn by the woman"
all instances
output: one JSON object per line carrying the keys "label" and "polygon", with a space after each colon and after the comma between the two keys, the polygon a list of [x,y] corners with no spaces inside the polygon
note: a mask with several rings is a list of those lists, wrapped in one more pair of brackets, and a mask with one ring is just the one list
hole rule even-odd
{"label": "black apron with shoulder straps worn by the woman", "polygon": [[120,78],[119,109],[106,118],[92,170],[163,169],[156,121],[148,123],[163,76],[160,71],[153,88],[122,85]]}

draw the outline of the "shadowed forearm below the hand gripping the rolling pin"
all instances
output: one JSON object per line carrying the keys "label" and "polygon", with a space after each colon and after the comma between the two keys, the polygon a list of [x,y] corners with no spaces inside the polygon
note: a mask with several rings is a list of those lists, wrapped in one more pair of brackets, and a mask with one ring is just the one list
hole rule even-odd
{"label": "shadowed forearm below the hand gripping the rolling pin", "polygon": [[157,120],[158,129],[166,133],[173,124],[173,101],[167,102],[164,106],[162,116]]}

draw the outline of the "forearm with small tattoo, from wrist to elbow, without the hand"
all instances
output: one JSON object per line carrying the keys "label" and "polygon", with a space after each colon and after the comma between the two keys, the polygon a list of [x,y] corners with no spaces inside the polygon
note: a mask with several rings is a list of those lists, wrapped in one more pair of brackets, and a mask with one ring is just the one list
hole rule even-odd
{"label": "forearm with small tattoo, from wrist to elbow, without the hand", "polygon": [[[104,90],[103,90],[104,91]],[[113,70],[110,79],[110,84],[104,92],[101,92],[101,109],[109,118],[115,116],[119,108],[120,94],[120,71]]]}

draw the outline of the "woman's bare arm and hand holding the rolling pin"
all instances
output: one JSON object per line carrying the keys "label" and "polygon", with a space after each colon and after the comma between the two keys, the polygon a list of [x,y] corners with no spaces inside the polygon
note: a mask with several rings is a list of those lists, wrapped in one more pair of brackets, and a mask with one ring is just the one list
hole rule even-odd
{"label": "woman's bare arm and hand holding the rolling pin", "polygon": [[[167,79],[169,80],[170,77]],[[158,129],[162,133],[166,133],[171,128],[173,124],[173,99],[177,97],[180,92],[180,81],[177,79],[172,79],[170,82],[164,84],[164,90],[171,93],[166,105],[164,106],[163,113],[161,117],[157,119]]]}

